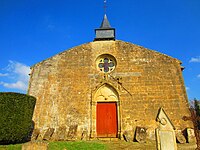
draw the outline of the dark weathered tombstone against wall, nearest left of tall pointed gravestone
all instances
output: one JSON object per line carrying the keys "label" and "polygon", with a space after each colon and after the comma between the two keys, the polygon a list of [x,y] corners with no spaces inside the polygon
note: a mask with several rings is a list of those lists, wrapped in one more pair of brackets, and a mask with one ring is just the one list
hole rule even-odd
{"label": "dark weathered tombstone against wall, nearest left of tall pointed gravestone", "polygon": [[147,138],[147,129],[144,127],[136,127],[135,140],[139,143],[145,143]]}

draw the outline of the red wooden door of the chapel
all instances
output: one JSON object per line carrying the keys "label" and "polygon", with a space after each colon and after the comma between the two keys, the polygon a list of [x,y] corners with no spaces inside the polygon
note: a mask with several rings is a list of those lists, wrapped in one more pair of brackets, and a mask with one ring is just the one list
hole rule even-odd
{"label": "red wooden door of the chapel", "polygon": [[97,103],[97,136],[117,137],[116,103]]}

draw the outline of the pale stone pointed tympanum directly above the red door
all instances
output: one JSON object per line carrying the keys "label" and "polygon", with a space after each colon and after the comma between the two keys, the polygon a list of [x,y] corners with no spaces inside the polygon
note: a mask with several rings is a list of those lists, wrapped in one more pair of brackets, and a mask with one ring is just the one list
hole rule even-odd
{"label": "pale stone pointed tympanum directly above the red door", "polygon": [[106,101],[118,101],[118,92],[109,84],[102,85],[94,95],[94,101],[106,102]]}

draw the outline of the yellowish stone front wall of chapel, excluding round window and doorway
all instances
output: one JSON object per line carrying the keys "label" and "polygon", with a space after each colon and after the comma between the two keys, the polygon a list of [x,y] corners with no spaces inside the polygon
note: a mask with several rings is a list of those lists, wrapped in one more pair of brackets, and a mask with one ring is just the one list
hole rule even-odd
{"label": "yellowish stone front wall of chapel, excluding round window and doorway", "polygon": [[[111,54],[117,60],[109,75],[96,69],[95,61],[101,54]],[[35,127],[78,124],[79,134],[94,130],[92,105],[96,103],[92,98],[104,83],[119,94],[121,132],[136,126],[154,130],[160,107],[177,129],[192,127],[191,122],[182,121],[189,110],[180,62],[122,41],[91,42],[36,64],[29,85],[29,94],[37,98]]]}

